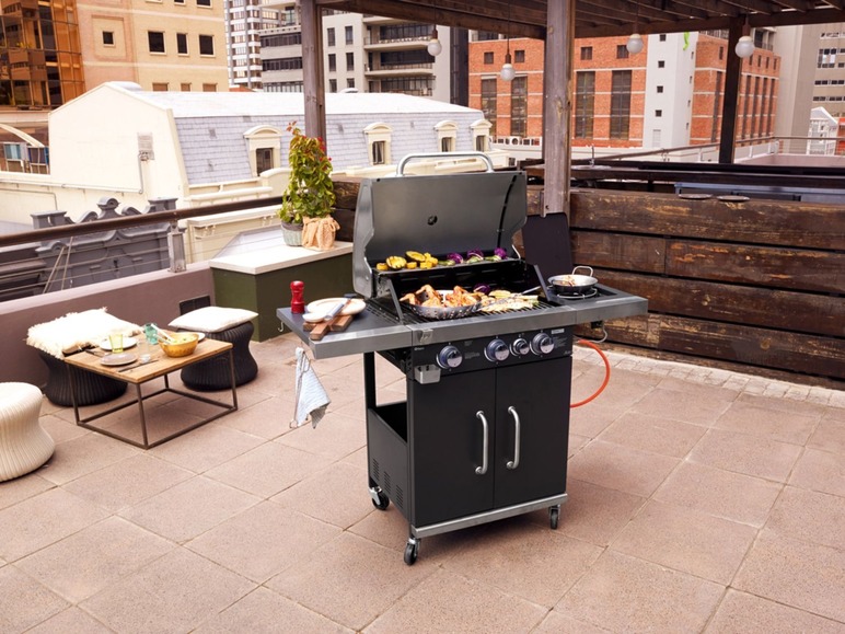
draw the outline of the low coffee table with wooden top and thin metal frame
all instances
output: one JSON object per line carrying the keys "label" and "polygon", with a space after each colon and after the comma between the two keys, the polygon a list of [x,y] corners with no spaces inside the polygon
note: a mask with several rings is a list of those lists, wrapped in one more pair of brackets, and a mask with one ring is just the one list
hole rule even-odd
{"label": "low coffee table with wooden top and thin metal frame", "polygon": [[[127,350],[127,351],[134,351],[134,350]],[[140,356],[140,351],[137,354],[138,356]],[[182,368],[185,368],[198,361],[205,361],[220,355],[228,355],[229,357],[229,371],[232,379],[231,405],[229,403],[215,401],[213,399],[208,399],[206,396],[201,396],[193,392],[176,390],[170,387],[169,374],[171,372],[175,372],[176,370],[181,370]],[[127,364],[126,366],[104,366],[102,364],[102,356],[103,356],[102,350],[91,349],[91,350],[82,350],[74,355],[65,357],[65,362],[67,364],[67,367],[68,367],[70,394],[71,394],[71,400],[73,402],[73,416],[76,417],[77,425],[79,425],[80,427],[84,427],[85,429],[99,431],[100,434],[104,434],[112,438],[116,438],[117,440],[123,440],[124,442],[128,442],[129,445],[140,447],[141,449],[150,449],[152,447],[157,447],[161,445],[162,442],[172,440],[177,436],[182,436],[183,434],[186,434],[192,429],[196,429],[197,427],[200,427],[206,423],[210,423],[211,420],[216,420],[221,416],[225,416],[230,412],[234,412],[235,410],[238,410],[238,392],[235,389],[235,381],[234,381],[234,362],[232,358],[232,344],[229,342],[218,342],[216,339],[211,339],[207,337],[206,339],[199,343],[199,345],[197,346],[196,350],[194,350],[193,354],[186,357],[167,357],[160,348],[153,348],[151,351],[152,358],[148,364],[138,364],[138,361],[135,361],[132,364]],[[80,416],[79,405],[77,404],[77,387],[76,387],[76,373],[81,370],[96,372],[97,374],[103,374],[105,377],[117,379],[118,381],[125,381],[126,383],[135,385],[136,399],[134,401],[129,401],[128,403],[121,403],[109,410],[97,412],[92,416],[82,418]],[[164,388],[155,390],[154,392],[150,392],[149,394],[143,394],[141,390],[141,385],[143,385],[143,383],[147,383],[160,377],[164,378]],[[198,423],[194,423],[185,427],[184,429],[180,429],[174,434],[170,434],[164,438],[159,438],[158,440],[150,442],[147,435],[147,416],[143,411],[143,402],[147,401],[148,399],[151,399],[152,396],[157,396],[158,394],[162,394],[165,392],[180,394],[187,399],[193,399],[194,401],[201,401],[202,403],[209,403],[211,405],[221,407],[221,411],[216,413],[213,416],[204,418],[202,420],[199,420]],[[138,413],[141,418],[141,437],[142,437],[141,442],[138,442],[132,438],[128,438],[126,436],[116,434],[111,429],[106,429],[103,427],[95,427],[94,425],[91,425],[92,420],[96,420],[97,418],[102,418],[103,416],[107,416],[108,414],[113,414],[114,412],[117,412],[119,410],[124,410],[125,407],[130,407],[136,403],[138,404]]]}

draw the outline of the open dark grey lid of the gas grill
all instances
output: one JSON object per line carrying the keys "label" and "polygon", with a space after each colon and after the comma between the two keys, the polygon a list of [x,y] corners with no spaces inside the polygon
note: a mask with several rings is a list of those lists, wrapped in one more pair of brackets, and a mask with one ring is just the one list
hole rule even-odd
{"label": "open dark grey lid of the gas grill", "polygon": [[512,252],[528,215],[524,172],[364,180],[355,216],[355,290],[372,297],[371,265],[406,251],[443,256],[496,247]]}

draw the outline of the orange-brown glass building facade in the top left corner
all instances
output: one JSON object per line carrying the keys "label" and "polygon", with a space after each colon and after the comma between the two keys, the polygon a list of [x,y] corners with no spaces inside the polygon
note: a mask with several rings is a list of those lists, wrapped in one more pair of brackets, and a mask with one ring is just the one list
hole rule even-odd
{"label": "orange-brown glass building facade in the top left corner", "polygon": [[85,90],[73,0],[1,0],[0,107],[57,107]]}

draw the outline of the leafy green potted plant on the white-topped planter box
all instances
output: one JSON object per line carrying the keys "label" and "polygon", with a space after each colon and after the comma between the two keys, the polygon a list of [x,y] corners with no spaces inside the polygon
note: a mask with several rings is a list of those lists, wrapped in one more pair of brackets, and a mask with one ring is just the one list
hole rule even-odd
{"label": "leafy green potted plant on the white-topped planter box", "polygon": [[290,182],[279,208],[285,243],[331,249],[339,228],[332,218],[332,159],[326,155],[323,139],[303,135],[296,122],[287,129],[293,136],[288,152]]}

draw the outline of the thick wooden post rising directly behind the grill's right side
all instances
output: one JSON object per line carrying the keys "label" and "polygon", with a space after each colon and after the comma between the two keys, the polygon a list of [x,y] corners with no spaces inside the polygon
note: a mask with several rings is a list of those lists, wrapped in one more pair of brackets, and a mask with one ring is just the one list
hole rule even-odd
{"label": "thick wooden post rising directly behind the grill's right side", "polygon": [[541,215],[569,215],[575,0],[548,2],[543,103],[544,201]]}

